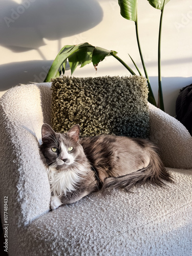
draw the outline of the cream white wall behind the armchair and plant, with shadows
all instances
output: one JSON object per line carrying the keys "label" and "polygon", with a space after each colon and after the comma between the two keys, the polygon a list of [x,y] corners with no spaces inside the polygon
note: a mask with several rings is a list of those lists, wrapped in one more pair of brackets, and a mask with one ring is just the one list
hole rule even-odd
{"label": "cream white wall behind the armchair and plant, with shadows", "polygon": [[[141,48],[157,97],[157,40],[160,11],[139,0]],[[1,0],[0,96],[19,83],[43,81],[64,45],[89,42],[115,50],[131,68],[140,69],[134,22],[120,15],[118,0]],[[179,90],[192,83],[192,2],[170,0],[162,27],[162,83],[165,111],[175,115]],[[70,71],[67,71],[70,75]],[[113,57],[95,70],[77,68],[74,76],[130,75]]]}

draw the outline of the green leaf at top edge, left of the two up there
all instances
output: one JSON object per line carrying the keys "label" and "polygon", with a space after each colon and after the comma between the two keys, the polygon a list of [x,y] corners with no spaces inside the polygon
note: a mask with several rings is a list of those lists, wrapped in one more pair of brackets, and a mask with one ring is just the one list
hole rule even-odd
{"label": "green leaf at top edge, left of the two up there", "polygon": [[137,0],[118,0],[118,4],[123,18],[137,20]]}

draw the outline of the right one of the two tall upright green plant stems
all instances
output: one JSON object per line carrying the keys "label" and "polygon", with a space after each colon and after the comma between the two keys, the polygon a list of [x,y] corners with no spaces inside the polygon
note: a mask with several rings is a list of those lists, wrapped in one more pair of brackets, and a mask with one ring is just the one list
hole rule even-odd
{"label": "right one of the two tall upright green plant stems", "polygon": [[165,0],[163,2],[163,7],[161,10],[161,17],[160,17],[160,24],[159,24],[159,39],[158,39],[158,102],[157,102],[157,106],[162,111],[165,111],[164,102],[163,102],[162,84],[161,84],[161,29],[162,29],[164,6],[165,6]]}

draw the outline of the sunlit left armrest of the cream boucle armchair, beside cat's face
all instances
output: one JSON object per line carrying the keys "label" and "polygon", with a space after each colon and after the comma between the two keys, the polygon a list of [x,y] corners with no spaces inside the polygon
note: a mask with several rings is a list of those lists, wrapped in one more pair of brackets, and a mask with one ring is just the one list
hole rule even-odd
{"label": "sunlit left armrest of the cream boucle armchair, beside cat's face", "polygon": [[38,148],[50,96],[49,84],[28,84],[0,100],[0,208],[3,214],[8,197],[10,226],[26,225],[50,210],[50,184]]}

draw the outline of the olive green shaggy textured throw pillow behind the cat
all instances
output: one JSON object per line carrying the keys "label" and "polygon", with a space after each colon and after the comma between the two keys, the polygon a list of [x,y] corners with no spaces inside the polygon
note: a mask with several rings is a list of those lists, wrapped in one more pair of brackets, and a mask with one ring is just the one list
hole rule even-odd
{"label": "olive green shaggy textured throw pillow behind the cat", "polygon": [[149,113],[144,77],[67,77],[52,80],[52,126],[81,136],[114,134],[147,138]]}

